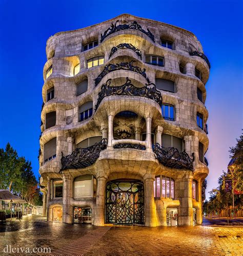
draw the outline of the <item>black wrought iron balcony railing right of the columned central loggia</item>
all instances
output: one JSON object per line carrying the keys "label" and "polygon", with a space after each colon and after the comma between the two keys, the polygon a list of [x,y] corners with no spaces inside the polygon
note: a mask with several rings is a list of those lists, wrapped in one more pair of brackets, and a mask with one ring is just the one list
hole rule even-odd
{"label": "black wrought iron balcony railing right of the columned central loggia", "polygon": [[164,166],[193,170],[194,153],[193,158],[190,158],[185,150],[180,153],[175,148],[164,148],[158,143],[153,145],[153,152],[156,159],[164,164]]}

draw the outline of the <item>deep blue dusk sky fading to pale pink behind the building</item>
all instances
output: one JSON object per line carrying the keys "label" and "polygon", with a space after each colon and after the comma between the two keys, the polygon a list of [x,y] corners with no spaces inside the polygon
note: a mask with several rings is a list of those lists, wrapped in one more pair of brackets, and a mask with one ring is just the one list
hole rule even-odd
{"label": "deep blue dusk sky fading to pale pink behind the building", "polygon": [[0,148],[9,141],[38,175],[40,108],[46,41],[130,13],[192,31],[211,62],[208,189],[227,170],[229,147],[242,127],[242,1],[0,0]]}

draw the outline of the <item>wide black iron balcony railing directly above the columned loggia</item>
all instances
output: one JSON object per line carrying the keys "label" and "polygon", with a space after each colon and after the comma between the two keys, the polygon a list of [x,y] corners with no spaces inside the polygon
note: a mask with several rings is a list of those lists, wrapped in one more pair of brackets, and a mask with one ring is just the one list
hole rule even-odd
{"label": "wide black iron balcony railing directly above the columned loggia", "polygon": [[100,92],[98,93],[98,100],[95,105],[95,111],[97,110],[100,102],[106,97],[111,95],[128,95],[128,96],[140,96],[146,97],[156,101],[159,106],[162,105],[161,93],[156,89],[155,84],[149,83],[144,87],[136,87],[132,84],[131,80],[127,77],[125,84],[120,86],[111,86],[111,79],[107,80],[105,84],[102,85]]}

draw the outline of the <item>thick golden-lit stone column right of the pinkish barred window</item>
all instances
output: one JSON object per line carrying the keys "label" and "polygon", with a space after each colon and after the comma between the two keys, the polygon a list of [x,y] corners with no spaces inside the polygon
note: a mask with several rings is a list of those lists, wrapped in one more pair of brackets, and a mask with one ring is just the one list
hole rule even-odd
{"label": "thick golden-lit stone column right of the pinkish barred window", "polygon": [[192,175],[186,175],[178,184],[180,194],[180,207],[178,213],[178,225],[193,225],[192,217]]}

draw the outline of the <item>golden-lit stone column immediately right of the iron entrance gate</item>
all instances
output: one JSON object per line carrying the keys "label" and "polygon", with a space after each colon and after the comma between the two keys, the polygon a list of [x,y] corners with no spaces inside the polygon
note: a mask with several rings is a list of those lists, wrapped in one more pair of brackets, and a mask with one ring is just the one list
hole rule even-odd
{"label": "golden-lit stone column immediately right of the iron entrance gate", "polygon": [[145,174],[144,176],[144,189],[145,189],[145,226],[156,227],[156,207],[154,203],[154,175]]}

